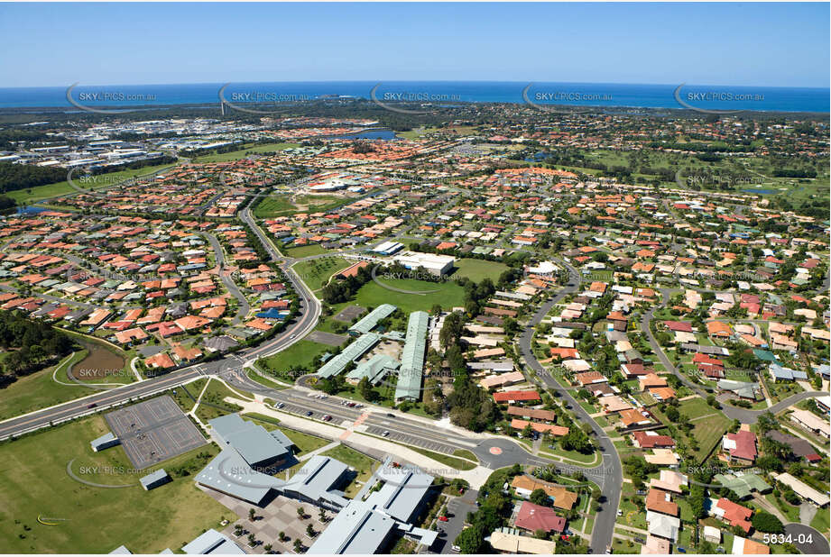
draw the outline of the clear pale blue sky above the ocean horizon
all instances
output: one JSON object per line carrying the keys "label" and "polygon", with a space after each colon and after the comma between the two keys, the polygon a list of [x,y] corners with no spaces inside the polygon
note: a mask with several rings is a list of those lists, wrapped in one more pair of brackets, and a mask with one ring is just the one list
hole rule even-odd
{"label": "clear pale blue sky above the ocean horizon", "polygon": [[0,87],[325,80],[828,87],[829,5],[0,4]]}

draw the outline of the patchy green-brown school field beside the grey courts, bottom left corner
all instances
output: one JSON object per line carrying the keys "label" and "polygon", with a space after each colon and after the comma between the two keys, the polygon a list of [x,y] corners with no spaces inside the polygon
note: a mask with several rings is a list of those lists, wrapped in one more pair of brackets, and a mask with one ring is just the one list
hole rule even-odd
{"label": "patchy green-brown school field beside the grey courts, bottom left corner", "polygon": [[[179,550],[207,528],[221,528],[232,512],[197,489],[193,474],[217,454],[206,445],[162,463],[172,481],[145,491],[120,446],[93,452],[92,439],[107,430],[100,415],[0,444],[0,537],[9,553],[106,553],[125,544],[132,552]],[[198,456],[201,455],[201,456]],[[105,485],[84,485],[69,477],[67,465],[82,479]],[[96,468],[97,467],[97,470]],[[147,470],[150,471],[150,470]],[[44,522],[38,516],[57,518]]]}

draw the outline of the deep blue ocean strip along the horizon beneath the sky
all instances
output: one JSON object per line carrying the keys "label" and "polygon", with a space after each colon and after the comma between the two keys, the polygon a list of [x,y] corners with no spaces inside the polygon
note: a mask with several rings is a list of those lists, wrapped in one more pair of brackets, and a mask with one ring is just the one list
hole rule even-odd
{"label": "deep blue ocean strip along the horizon beneath the sky", "polygon": [[[113,106],[188,105],[217,103],[226,84],[78,85],[71,98],[78,104],[106,109]],[[377,86],[377,87],[376,87]],[[530,87],[529,87],[530,86]],[[69,86],[68,86],[69,87]],[[80,110],[67,99],[68,87],[0,88],[0,108],[63,107]],[[538,105],[632,106],[683,108],[675,85],[604,83],[522,83],[503,81],[309,81],[227,84],[223,96],[237,106],[251,102],[298,102],[322,97],[375,98],[387,105],[408,100],[418,103],[453,101],[523,103],[523,91]],[[706,110],[829,112],[829,89],[809,87],[731,87],[685,85],[678,96],[689,106]]]}

